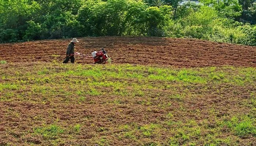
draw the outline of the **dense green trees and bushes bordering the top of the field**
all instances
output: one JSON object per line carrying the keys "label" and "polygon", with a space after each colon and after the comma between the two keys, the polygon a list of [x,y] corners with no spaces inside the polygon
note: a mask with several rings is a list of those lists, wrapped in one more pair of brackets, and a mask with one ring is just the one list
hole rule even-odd
{"label": "dense green trees and bushes bordering the top of the field", "polygon": [[255,0],[0,0],[0,43],[108,35],[256,46],[255,24]]}

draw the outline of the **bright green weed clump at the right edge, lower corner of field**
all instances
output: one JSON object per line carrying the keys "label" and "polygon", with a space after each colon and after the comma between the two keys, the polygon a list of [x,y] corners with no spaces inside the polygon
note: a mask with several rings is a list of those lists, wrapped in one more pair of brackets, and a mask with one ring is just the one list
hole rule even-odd
{"label": "bright green weed clump at the right edge, lower corner of field", "polygon": [[231,118],[226,122],[228,128],[234,131],[238,137],[248,137],[248,135],[256,135],[255,120],[249,116]]}

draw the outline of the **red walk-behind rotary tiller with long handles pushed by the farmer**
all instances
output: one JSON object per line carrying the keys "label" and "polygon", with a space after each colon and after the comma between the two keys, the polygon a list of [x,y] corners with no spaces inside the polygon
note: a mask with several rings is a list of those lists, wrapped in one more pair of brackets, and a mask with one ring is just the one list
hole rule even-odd
{"label": "red walk-behind rotary tiller with long handles pushed by the farmer", "polygon": [[77,55],[77,56],[81,56],[84,58],[91,58],[94,60],[94,64],[106,64],[108,61],[108,55],[107,52],[104,50],[104,48],[101,48],[100,51],[94,51],[93,53],[91,53],[92,56],[87,56],[81,53],[74,53],[72,55]]}

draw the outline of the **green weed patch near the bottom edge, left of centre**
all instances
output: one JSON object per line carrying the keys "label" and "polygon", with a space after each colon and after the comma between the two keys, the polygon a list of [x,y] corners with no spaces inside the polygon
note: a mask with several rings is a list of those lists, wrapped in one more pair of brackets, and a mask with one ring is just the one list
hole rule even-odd
{"label": "green weed patch near the bottom edge, left of centre", "polygon": [[33,128],[33,134],[40,134],[46,139],[57,139],[63,132],[64,129],[55,124]]}

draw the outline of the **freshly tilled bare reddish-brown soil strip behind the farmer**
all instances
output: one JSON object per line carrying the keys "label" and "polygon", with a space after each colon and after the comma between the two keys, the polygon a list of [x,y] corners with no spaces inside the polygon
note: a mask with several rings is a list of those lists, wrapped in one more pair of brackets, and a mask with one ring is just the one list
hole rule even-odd
{"label": "freshly tilled bare reddish-brown soil strip behind the farmer", "polygon": [[[8,62],[63,61],[70,39],[1,44],[1,60]],[[79,38],[75,51],[90,55],[105,47],[115,64],[197,66],[256,66],[256,47],[158,37]],[[76,57],[78,63],[92,63]]]}

